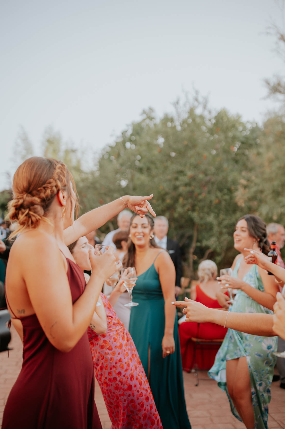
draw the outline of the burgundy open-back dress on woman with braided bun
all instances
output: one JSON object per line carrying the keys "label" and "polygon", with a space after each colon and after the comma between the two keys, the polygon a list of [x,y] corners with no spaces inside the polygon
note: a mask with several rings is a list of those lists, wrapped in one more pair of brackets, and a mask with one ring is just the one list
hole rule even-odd
{"label": "burgundy open-back dress on woman with braided bun", "polygon": [[[74,303],[86,282],[80,268],[67,262]],[[23,364],[4,409],[2,429],[102,429],[87,331],[63,353],[50,344],[36,314],[21,317],[21,322]]]}

